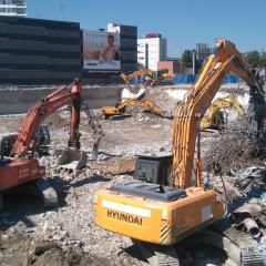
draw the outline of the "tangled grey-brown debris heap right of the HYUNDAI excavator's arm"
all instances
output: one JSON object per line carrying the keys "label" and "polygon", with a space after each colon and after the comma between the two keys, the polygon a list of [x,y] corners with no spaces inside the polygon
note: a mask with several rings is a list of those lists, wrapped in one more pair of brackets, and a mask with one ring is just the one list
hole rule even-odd
{"label": "tangled grey-brown debris heap right of the HYUNDAI excavator's arm", "polygon": [[204,154],[205,170],[222,170],[228,174],[232,168],[263,164],[266,150],[256,139],[255,126],[243,115],[213,139]]}

